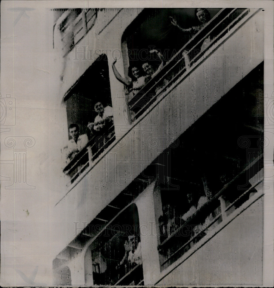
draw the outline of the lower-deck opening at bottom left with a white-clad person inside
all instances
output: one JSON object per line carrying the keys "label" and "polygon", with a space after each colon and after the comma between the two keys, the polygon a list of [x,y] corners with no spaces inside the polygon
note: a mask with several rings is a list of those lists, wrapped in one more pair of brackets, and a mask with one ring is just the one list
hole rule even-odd
{"label": "lower-deck opening at bottom left with a white-clad person inside", "polygon": [[136,205],[131,204],[114,219],[87,253],[86,265],[92,263],[93,285],[143,285]]}

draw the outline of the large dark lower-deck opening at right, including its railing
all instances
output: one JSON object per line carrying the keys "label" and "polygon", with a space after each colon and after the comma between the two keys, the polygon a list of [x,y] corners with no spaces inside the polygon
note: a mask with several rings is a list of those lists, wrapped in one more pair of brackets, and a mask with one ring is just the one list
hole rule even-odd
{"label": "large dark lower-deck opening at right, including its railing", "polygon": [[262,103],[261,64],[158,157],[161,269],[245,202],[262,196]]}

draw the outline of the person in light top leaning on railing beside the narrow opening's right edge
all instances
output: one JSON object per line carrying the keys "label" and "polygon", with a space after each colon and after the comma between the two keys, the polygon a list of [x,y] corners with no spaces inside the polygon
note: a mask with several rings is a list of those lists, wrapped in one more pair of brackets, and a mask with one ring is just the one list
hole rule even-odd
{"label": "person in light top leaning on railing beside the narrow opening's right edge", "polygon": [[101,102],[97,102],[94,106],[94,109],[97,111],[98,115],[94,119],[94,124],[92,125],[92,123],[90,123],[88,128],[92,128],[93,126],[95,134],[103,137],[101,144],[104,145],[114,136],[114,128],[111,128],[114,123],[112,107],[103,107]]}

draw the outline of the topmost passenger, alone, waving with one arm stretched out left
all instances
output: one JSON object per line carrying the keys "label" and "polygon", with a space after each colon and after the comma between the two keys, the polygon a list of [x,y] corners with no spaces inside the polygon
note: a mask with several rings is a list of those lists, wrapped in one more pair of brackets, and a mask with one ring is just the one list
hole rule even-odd
{"label": "topmost passenger, alone, waving with one arm stretched out left", "polygon": [[[194,14],[195,18],[198,20],[200,24],[198,26],[192,26],[190,28],[182,28],[172,16],[169,17],[172,25],[179,28],[184,33],[190,33],[191,37],[193,37],[198,31],[200,31],[205,26],[205,24],[207,24],[207,22],[211,18],[209,11],[205,8],[196,8]],[[209,45],[210,41],[211,41],[210,36],[208,36],[202,43],[201,51],[203,51]]]}

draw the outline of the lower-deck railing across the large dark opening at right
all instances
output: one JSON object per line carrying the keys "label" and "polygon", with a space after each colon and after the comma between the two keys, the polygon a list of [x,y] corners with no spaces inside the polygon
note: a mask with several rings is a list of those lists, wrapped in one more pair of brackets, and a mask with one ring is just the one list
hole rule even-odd
{"label": "lower-deck railing across the large dark opening at right", "polygon": [[[175,262],[179,257],[186,253],[196,242],[203,238],[209,230],[222,223],[235,209],[239,208],[246,202],[251,193],[257,193],[256,187],[262,183],[262,177],[258,177],[255,183],[248,185],[248,179],[256,176],[263,168],[263,155],[258,156],[249,164],[241,173],[239,173],[229,183],[208,200],[194,214],[169,237],[158,245],[158,251],[165,259],[161,266],[166,267]],[[245,184],[245,189],[237,189],[240,185]],[[260,194],[259,196],[262,196]],[[227,200],[226,198],[229,198]],[[188,233],[186,233],[185,228]],[[191,229],[190,229],[191,228]]]}

